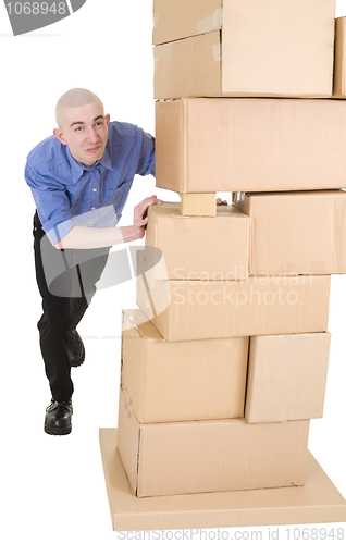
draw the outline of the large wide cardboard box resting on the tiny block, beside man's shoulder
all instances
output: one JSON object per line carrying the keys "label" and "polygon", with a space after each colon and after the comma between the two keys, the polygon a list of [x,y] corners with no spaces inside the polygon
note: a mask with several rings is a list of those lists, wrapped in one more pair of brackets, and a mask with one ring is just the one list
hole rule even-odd
{"label": "large wide cardboard box resting on the tiny block, beside man's shoulder", "polygon": [[176,193],[338,189],[342,100],[156,102],[156,183]]}

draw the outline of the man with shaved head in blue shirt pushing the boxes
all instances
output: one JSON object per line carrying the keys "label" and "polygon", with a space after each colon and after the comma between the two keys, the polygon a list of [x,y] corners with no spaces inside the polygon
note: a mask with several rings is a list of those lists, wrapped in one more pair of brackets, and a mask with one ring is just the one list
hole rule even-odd
{"label": "man with shaved head in blue shirt pushing the boxes", "polygon": [[[155,138],[135,125],[110,122],[101,100],[86,89],[65,92],[55,115],[53,136],[27,157],[25,180],[37,208],[34,250],[44,309],[38,330],[52,394],[45,431],[63,435],[72,429],[71,367],[85,356],[76,326],[108,251],[143,238],[147,208],[162,201],[146,198],[135,207],[133,224],[116,227],[135,174],[155,175]],[[54,272],[58,262],[64,262],[63,272]]]}

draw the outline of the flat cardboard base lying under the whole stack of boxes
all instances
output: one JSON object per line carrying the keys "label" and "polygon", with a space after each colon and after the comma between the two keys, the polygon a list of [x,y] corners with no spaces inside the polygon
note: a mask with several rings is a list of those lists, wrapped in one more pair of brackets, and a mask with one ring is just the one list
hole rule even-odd
{"label": "flat cardboard base lying under the whole stack of boxes", "polygon": [[346,521],[345,499],[310,452],[301,486],[138,498],[116,449],[116,429],[100,429],[100,448],[114,531]]}

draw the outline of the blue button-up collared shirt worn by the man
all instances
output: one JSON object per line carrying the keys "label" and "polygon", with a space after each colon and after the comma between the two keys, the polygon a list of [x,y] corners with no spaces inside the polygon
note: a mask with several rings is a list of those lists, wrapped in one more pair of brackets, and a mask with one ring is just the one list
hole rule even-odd
{"label": "blue button-up collared shirt worn by the man", "polygon": [[52,244],[72,226],[115,226],[135,174],[155,175],[155,138],[129,123],[109,124],[103,157],[92,166],[77,162],[55,136],[28,154],[25,180]]}

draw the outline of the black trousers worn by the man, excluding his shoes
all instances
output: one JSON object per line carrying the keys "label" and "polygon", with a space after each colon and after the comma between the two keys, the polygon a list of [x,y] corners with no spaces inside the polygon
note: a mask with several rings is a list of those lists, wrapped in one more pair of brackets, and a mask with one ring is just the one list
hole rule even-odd
{"label": "black trousers worn by the man, excluding his shoes", "polygon": [[37,323],[40,349],[52,397],[61,403],[73,394],[69,333],[76,329],[91,301],[110,248],[55,249],[42,231],[37,212],[33,234],[44,310]]}

